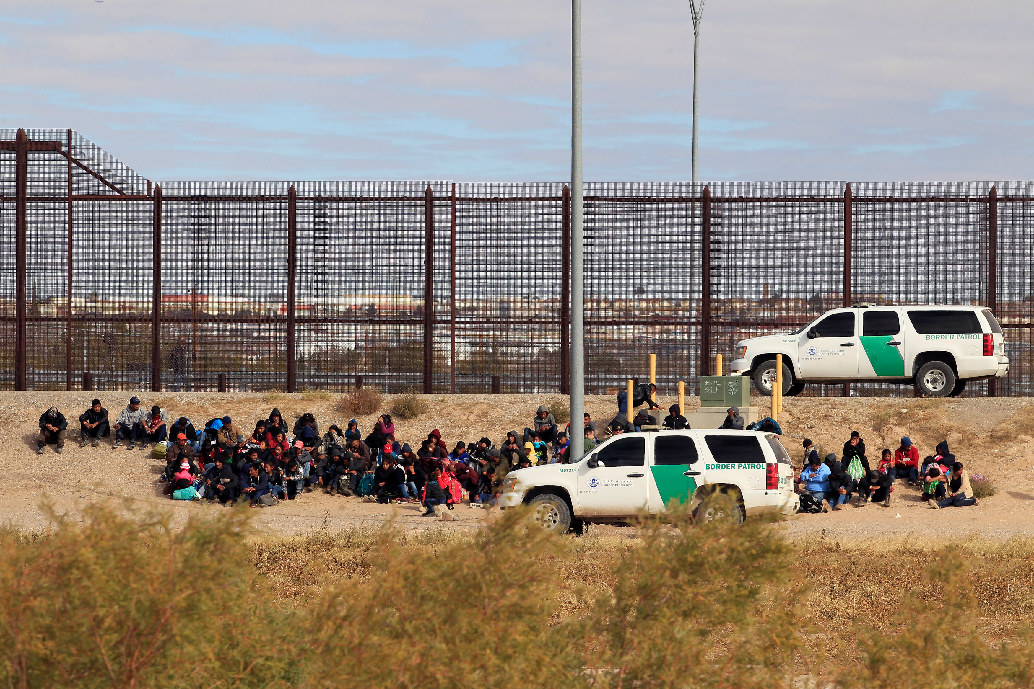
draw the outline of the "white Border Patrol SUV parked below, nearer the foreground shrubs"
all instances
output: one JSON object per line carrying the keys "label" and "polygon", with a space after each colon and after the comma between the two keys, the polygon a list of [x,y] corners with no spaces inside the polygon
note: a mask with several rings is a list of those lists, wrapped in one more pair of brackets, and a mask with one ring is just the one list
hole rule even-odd
{"label": "white Border Patrol SUV parked below, nearer the foreground shrubs", "polygon": [[[725,494],[733,513],[708,497]],[[665,511],[671,501],[696,504],[705,520],[739,523],[763,512],[793,514],[790,456],[771,433],[655,431],[624,433],[600,443],[574,464],[549,464],[507,474],[499,505],[528,504],[545,528],[580,532],[588,522],[618,524],[640,510]]]}

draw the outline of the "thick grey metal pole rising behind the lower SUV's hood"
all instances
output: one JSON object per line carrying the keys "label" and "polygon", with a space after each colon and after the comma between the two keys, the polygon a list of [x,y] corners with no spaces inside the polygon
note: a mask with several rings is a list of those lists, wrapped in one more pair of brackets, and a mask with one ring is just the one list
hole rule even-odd
{"label": "thick grey metal pole rising behind the lower SUV's hood", "polygon": [[585,410],[585,228],[582,215],[581,0],[571,0],[571,462],[581,459]]}

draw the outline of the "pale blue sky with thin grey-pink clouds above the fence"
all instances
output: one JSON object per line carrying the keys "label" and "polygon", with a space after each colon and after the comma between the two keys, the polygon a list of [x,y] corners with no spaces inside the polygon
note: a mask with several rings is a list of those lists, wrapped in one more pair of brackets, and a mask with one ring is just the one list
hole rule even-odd
{"label": "pale blue sky with thin grey-pink clouds above the fence", "polygon": [[[566,181],[570,4],[0,0],[0,128],[153,180]],[[1029,0],[709,0],[701,180],[1030,180]],[[584,0],[585,179],[688,181],[688,0]]]}

